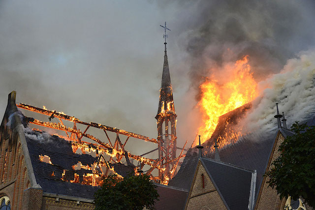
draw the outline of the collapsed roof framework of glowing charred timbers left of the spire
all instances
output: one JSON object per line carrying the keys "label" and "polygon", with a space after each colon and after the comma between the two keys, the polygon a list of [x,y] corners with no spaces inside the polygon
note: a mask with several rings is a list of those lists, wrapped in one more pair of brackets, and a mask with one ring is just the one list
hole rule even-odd
{"label": "collapsed roof framework of glowing charred timbers left of the spire", "polygon": [[[25,110],[28,110],[28,111],[31,111],[34,113],[39,113],[42,115],[50,116],[48,118],[49,121],[40,121],[40,120],[36,120],[33,118],[27,118],[27,117],[25,118],[25,121],[28,123],[32,123],[34,125],[39,125],[39,126],[43,126],[43,127],[48,127],[48,128],[64,131],[66,136],[63,138],[66,138],[67,140],[72,141],[72,149],[74,152],[78,148],[80,148],[83,152],[85,150],[94,150],[94,151],[96,151],[97,155],[99,154],[98,155],[99,157],[100,157],[100,154],[102,154],[103,156],[107,155],[107,156],[109,156],[108,162],[117,163],[118,165],[119,165],[120,161],[122,160],[122,158],[124,158],[125,156],[126,156],[126,161],[128,161],[128,158],[132,158],[132,159],[138,161],[139,164],[141,163],[140,164],[141,171],[142,171],[142,167],[144,165],[149,166],[148,170],[146,171],[146,174],[148,176],[150,176],[152,180],[154,180],[158,183],[163,182],[161,180],[160,174],[163,174],[166,171],[165,170],[166,166],[170,163],[177,166],[179,159],[185,156],[185,154],[183,154],[184,149],[182,149],[181,154],[178,157],[172,159],[171,162],[161,163],[159,161],[159,159],[151,159],[151,158],[144,157],[145,154],[150,153],[150,152],[155,151],[155,150],[147,152],[143,155],[134,155],[134,154],[131,154],[130,152],[125,150],[126,143],[128,142],[130,137],[134,138],[136,140],[144,140],[147,142],[152,142],[152,143],[158,144],[158,141],[156,139],[150,139],[146,136],[142,136],[139,134],[128,132],[128,131],[125,131],[122,129],[118,129],[116,127],[115,128],[109,127],[106,125],[102,125],[100,123],[83,122],[83,121],[81,121],[75,117],[65,115],[64,113],[56,112],[55,110],[54,111],[47,110],[45,107],[43,109],[41,109],[41,108],[34,107],[31,105],[23,104],[23,103],[17,104],[16,106],[18,108],[25,109]],[[51,120],[54,118],[58,119],[59,122],[58,123],[51,122]],[[73,123],[73,127],[65,126],[63,120],[67,120],[67,122]],[[84,132],[82,132],[78,128],[79,125],[86,126]],[[105,143],[105,142],[101,141],[100,139],[96,138],[95,136],[89,134],[87,131],[91,127],[103,130],[105,135],[106,135],[106,138],[108,140],[108,143]],[[115,141],[111,140],[108,132],[114,133],[116,135]],[[123,143],[121,141],[122,136],[127,137],[125,143]],[[83,137],[94,141],[95,144],[83,142],[82,141]],[[92,149],[91,149],[91,147],[92,147]],[[174,166],[174,168],[176,168],[175,166]],[[115,167],[118,167],[118,166],[115,165]],[[154,169],[158,170],[159,176],[157,176],[157,177],[153,176],[152,172]],[[138,174],[138,169],[135,170],[135,173]],[[168,180],[167,180],[167,182],[168,182]],[[165,184],[167,184],[167,182],[165,182]]]}

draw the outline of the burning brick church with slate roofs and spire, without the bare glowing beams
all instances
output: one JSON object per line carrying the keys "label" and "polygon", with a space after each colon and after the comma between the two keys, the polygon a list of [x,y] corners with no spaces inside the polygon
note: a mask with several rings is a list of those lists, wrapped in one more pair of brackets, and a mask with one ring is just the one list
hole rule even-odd
{"label": "burning brick church with slate roofs and spire, without the bare glowing beams", "polygon": [[[165,25],[166,28],[166,25]],[[279,157],[279,145],[294,135],[279,115],[278,128],[270,133],[249,133],[235,144],[218,150],[217,139],[237,124],[251,104],[233,110],[219,119],[211,139],[190,148],[176,173],[176,117],[166,55],[158,106],[158,160],[167,165],[159,172],[157,210],[312,210],[302,200],[280,199],[263,176]],[[73,152],[71,142],[28,126],[29,118],[18,111],[16,92],[0,125],[0,209],[12,210],[93,210],[95,184],[92,165],[97,158]],[[307,121],[315,125],[314,114]],[[212,152],[211,147],[215,147]],[[90,148],[91,149],[91,148]],[[183,152],[183,150],[182,150]],[[182,153],[181,153],[182,154]],[[175,163],[173,160],[178,159]],[[80,162],[82,168],[73,166]],[[110,165],[124,177],[135,166]],[[89,175],[89,176],[88,176]],[[172,178],[172,179],[171,179]],[[97,178],[101,179],[101,178]]]}

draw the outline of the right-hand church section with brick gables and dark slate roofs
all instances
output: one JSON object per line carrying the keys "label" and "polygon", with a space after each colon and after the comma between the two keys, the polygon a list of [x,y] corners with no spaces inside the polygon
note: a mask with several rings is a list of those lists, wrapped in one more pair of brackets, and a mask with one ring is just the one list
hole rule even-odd
{"label": "right-hand church section with brick gables and dark slate roofs", "polygon": [[[278,128],[272,133],[250,133],[233,145],[208,153],[216,147],[216,138],[224,135],[251,105],[245,105],[221,116],[213,137],[203,146],[191,148],[171,186],[189,189],[185,210],[313,210],[302,199],[280,199],[276,189],[268,186],[263,175],[279,157],[279,146],[294,133],[281,123],[277,106]],[[315,117],[305,121],[315,125]],[[227,124],[228,125],[227,125]],[[223,127],[223,129],[221,129]],[[199,148],[199,151],[196,149]]]}

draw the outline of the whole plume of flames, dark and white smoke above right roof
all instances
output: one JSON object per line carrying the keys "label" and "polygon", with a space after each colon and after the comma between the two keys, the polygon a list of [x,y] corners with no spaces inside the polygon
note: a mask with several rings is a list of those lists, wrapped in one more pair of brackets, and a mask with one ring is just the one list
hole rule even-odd
{"label": "whole plume of flames, dark and white smoke above right roof", "polygon": [[189,115],[198,125],[193,146],[197,135],[201,143],[211,137],[221,115],[250,102],[252,109],[239,123],[242,133],[276,128],[276,103],[288,126],[310,117],[314,2],[198,2],[199,21],[187,24],[197,27],[182,40],[189,54],[189,91],[196,99]]}

